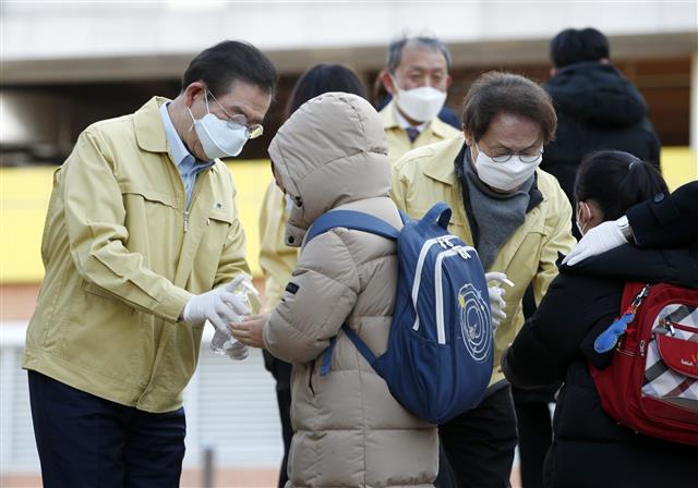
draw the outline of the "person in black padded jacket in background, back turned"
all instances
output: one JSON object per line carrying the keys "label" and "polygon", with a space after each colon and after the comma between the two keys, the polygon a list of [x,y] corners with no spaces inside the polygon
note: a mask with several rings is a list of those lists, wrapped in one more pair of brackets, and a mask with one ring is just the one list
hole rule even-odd
{"label": "person in black padded jacket in background, back turned", "polygon": [[[660,143],[647,103],[609,57],[609,40],[594,28],[565,29],[550,44],[552,77],[543,87],[557,112],[557,131],[541,168],[557,178],[570,203],[579,162],[593,150],[628,151],[659,169]],[[581,237],[574,224],[573,234]],[[551,442],[549,402],[557,387],[513,389],[524,488],[542,486],[541,463]]]}

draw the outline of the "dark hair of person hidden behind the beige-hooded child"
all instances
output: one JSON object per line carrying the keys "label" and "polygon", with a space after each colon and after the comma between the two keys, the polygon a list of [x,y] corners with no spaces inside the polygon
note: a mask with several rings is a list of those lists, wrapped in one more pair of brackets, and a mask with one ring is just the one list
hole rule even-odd
{"label": "dark hair of person hidden behind the beige-hooded child", "polygon": [[341,64],[315,64],[298,78],[286,106],[289,118],[311,98],[328,91],[345,91],[366,98],[366,90],[357,74]]}

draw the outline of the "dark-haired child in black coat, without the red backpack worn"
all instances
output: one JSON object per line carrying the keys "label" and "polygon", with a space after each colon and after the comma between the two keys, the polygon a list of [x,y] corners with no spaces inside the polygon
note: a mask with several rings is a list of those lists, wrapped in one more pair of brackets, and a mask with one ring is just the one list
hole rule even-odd
{"label": "dark-haired child in black coat, without the red backpack worn", "polygon": [[[622,151],[590,155],[575,184],[580,230],[625,213],[665,192],[659,172]],[[650,438],[618,425],[601,408],[588,364],[607,364],[593,351],[599,333],[621,315],[626,281],[698,289],[698,246],[640,249],[623,245],[559,276],[503,357],[520,388],[564,380],[545,460],[546,487],[684,486],[695,477],[698,448]]]}

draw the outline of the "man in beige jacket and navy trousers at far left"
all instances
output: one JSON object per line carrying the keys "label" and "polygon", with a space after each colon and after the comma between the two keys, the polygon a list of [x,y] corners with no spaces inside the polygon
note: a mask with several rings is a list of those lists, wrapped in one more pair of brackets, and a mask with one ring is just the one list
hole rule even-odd
{"label": "man in beige jacket and navy trousers at far left", "polygon": [[56,172],[23,362],[44,486],[179,485],[204,322],[250,312],[232,293],[250,269],[218,158],[261,133],[275,81],[256,48],[220,42],[174,100],[91,125]]}

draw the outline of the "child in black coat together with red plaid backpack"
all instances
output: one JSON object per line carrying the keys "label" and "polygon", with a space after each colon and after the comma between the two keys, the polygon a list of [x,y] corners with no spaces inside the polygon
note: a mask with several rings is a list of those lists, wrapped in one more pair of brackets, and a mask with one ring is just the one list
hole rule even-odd
{"label": "child in black coat together with red plaid backpack", "polygon": [[[665,191],[660,173],[636,157],[592,154],[575,182],[579,230],[583,234],[618,219]],[[670,296],[658,297],[658,290]],[[698,379],[682,359],[690,362],[690,351],[698,352],[697,305],[696,243],[664,249],[623,245],[574,267],[561,266],[502,364],[519,388],[564,381],[543,467],[545,486],[683,486],[695,479]],[[648,337],[640,339],[643,326]],[[637,347],[628,349],[630,343]],[[660,343],[671,347],[658,349]],[[640,377],[622,380],[619,363],[639,365]],[[610,377],[617,382],[616,394],[609,394]],[[646,402],[654,413],[660,405],[665,416],[652,418],[642,410]],[[628,410],[630,404],[640,410]],[[652,428],[645,429],[648,423]]]}

